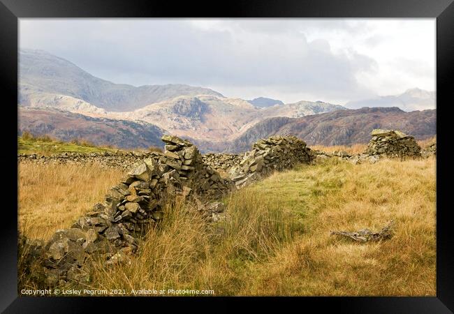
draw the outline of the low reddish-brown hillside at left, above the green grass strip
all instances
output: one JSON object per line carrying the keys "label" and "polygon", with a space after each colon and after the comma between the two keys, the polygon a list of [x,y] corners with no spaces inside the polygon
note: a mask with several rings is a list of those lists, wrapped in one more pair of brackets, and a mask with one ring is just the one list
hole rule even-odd
{"label": "low reddish-brown hillside at left, above the green grass strip", "polygon": [[59,140],[84,139],[120,148],[161,147],[163,130],[146,122],[92,118],[62,110],[21,108],[17,134],[50,135]]}

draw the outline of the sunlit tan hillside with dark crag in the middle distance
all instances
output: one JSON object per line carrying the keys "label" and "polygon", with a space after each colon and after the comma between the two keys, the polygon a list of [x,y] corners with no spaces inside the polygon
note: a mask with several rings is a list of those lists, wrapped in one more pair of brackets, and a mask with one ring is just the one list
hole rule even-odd
{"label": "sunlit tan hillside with dark crag in the middle distance", "polygon": [[239,98],[181,96],[133,112],[112,112],[108,117],[143,120],[168,132],[196,140],[233,140],[251,126],[270,117],[304,117],[345,109],[330,103],[299,103],[259,108]]}

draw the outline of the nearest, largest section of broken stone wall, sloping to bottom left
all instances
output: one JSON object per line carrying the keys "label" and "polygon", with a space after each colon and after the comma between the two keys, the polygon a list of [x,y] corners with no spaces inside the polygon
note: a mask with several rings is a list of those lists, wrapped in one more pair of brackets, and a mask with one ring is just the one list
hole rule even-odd
{"label": "nearest, largest section of broken stone wall, sloping to bottom left", "polygon": [[58,230],[44,246],[31,246],[31,251],[41,252],[47,283],[88,281],[89,256],[98,255],[107,264],[126,261],[136,251],[145,227],[163,218],[162,205],[169,195],[214,198],[234,187],[233,182],[221,179],[203,164],[198,149],[190,142],[170,135],[162,140],[166,151],[136,163],[108,190],[104,202],[78,218],[70,229]]}

